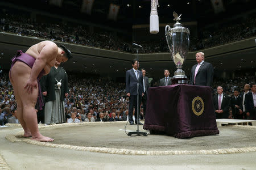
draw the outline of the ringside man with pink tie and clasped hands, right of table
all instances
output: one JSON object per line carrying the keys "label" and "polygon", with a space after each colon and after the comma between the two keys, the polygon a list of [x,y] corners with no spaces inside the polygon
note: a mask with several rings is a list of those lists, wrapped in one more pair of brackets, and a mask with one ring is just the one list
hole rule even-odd
{"label": "ringside man with pink tie and clasped hands, right of table", "polygon": [[230,105],[229,96],[223,94],[223,89],[221,86],[218,86],[217,92],[218,95],[215,95],[213,99],[216,118],[228,118]]}

